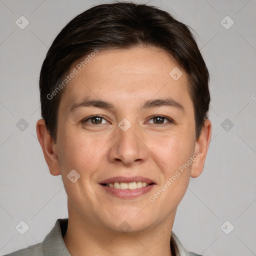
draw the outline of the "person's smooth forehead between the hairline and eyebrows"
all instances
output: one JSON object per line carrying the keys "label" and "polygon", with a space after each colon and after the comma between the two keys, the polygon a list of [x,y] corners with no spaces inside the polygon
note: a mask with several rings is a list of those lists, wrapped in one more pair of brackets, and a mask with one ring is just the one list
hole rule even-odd
{"label": "person's smooth forehead between the hairline and eyebrows", "polygon": [[66,104],[79,102],[85,96],[112,99],[116,104],[135,104],[136,100],[171,96],[182,105],[191,104],[186,74],[162,49],[99,50],[87,58],[79,70],[77,64],[84,59],[76,61],[70,68],[77,69],[77,74],[68,82],[62,95]]}

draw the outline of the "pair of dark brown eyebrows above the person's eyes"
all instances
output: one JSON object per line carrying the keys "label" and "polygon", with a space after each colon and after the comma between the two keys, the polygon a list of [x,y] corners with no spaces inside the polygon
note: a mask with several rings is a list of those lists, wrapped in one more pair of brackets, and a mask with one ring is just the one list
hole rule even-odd
{"label": "pair of dark brown eyebrows above the person's eyes", "polygon": [[[79,107],[100,107],[100,108],[105,108],[105,109],[114,109],[115,106],[107,101],[103,101],[100,99],[84,99],[81,102],[75,103],[71,106],[70,111],[74,111],[75,109]],[[152,107],[160,107],[160,106],[171,106],[171,107],[176,107],[182,111],[184,111],[184,107],[174,100],[173,98],[156,98],[156,99],[151,99],[147,100],[143,103],[141,106],[141,109],[146,109],[146,108],[152,108]]]}

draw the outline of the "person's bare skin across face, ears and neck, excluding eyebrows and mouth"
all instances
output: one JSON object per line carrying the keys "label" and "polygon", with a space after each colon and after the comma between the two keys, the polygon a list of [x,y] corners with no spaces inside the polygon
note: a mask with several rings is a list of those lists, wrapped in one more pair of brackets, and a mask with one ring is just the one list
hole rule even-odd
{"label": "person's bare skin across face, ears and neck, excluding eyebrows and mouth", "polygon": [[[38,120],[37,136],[49,171],[62,176],[68,197],[63,239],[71,255],[171,255],[169,239],[177,205],[189,178],[203,170],[211,136],[207,119],[195,139],[187,76],[182,71],[175,81],[169,75],[175,66],[175,60],[156,47],[100,50],[65,87],[55,144],[44,120]],[[174,106],[141,109],[145,100],[166,96],[178,101],[183,110]],[[85,97],[109,101],[114,108],[70,111]],[[82,123],[97,114],[104,116],[99,118],[101,124],[93,124],[93,118]],[[152,118],[156,114],[174,123]],[[131,123],[126,131],[118,126],[123,118]],[[149,196],[197,151],[198,158],[150,202]],[[80,174],[74,183],[66,176],[72,169]],[[113,176],[143,176],[156,184],[143,195],[122,199],[99,184]],[[127,232],[119,229],[123,221],[130,227]]]}

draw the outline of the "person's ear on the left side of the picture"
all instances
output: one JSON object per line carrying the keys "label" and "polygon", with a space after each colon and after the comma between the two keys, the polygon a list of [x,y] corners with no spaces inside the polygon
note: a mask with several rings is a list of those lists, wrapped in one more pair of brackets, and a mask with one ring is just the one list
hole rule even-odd
{"label": "person's ear on the left side of the picture", "polygon": [[50,136],[43,119],[37,121],[36,133],[50,173],[54,176],[60,175],[57,146],[54,143],[53,138]]}

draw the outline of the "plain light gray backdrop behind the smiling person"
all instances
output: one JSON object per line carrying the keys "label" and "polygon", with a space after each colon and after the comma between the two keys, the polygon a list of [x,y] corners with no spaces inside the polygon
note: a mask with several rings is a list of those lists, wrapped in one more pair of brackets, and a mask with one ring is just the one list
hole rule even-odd
{"label": "plain light gray backdrop behind the smiling person", "polygon": [[[0,254],[40,242],[57,218],[67,217],[61,177],[49,174],[35,132],[39,71],[60,29],[103,2],[109,1],[0,0]],[[205,256],[256,255],[256,1],[147,2],[196,31],[211,77],[212,139],[173,231]],[[15,24],[21,15],[29,21],[24,29]],[[21,220],[29,226],[23,235],[15,229]]]}

